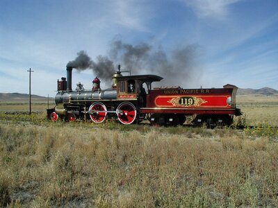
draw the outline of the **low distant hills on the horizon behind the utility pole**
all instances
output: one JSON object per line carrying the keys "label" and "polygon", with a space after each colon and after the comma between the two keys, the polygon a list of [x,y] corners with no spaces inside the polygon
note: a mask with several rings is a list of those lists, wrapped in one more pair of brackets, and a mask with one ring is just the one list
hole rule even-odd
{"label": "low distant hills on the horizon behind the utility pole", "polygon": [[[27,102],[29,99],[29,94],[21,93],[0,93],[0,102]],[[44,102],[47,101],[47,97],[31,95],[32,101]],[[54,98],[49,98],[49,101],[52,101]]]}

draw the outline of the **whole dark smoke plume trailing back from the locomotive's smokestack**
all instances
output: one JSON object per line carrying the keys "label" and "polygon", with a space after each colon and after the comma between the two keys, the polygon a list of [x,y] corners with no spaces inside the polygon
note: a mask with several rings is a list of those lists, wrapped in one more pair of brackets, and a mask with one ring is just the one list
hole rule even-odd
{"label": "whole dark smoke plume trailing back from the locomotive's smokestack", "polygon": [[197,49],[197,44],[188,44],[165,53],[161,46],[147,43],[131,45],[114,40],[108,56],[99,55],[93,61],[85,51],[80,51],[67,67],[77,70],[92,69],[95,75],[108,81],[120,63],[122,69],[131,70],[133,75],[152,73],[164,78],[163,85],[190,87],[188,83],[195,83],[202,73],[197,66]]}

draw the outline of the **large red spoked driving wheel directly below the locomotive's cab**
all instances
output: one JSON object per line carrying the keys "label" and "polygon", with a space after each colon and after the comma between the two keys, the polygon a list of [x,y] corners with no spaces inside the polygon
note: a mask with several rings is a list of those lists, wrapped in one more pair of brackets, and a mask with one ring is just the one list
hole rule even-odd
{"label": "large red spoked driving wheel directly below the locomotive's cab", "polygon": [[117,118],[123,124],[131,124],[136,119],[136,107],[129,102],[121,103],[117,107]]}

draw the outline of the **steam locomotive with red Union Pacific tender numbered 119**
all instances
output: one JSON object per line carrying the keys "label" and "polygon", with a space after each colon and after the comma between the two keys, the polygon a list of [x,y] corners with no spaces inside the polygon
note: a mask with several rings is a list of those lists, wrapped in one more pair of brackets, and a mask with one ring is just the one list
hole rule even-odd
{"label": "steam locomotive with red Union Pacific tender numbered 119", "polygon": [[163,78],[152,74],[123,76],[120,70],[113,74],[111,89],[101,89],[99,78],[92,80],[92,89],[85,90],[79,83],[72,90],[72,67],[67,67],[67,78],[58,80],[56,106],[47,110],[51,121],[92,120],[102,123],[115,119],[123,124],[148,120],[152,125],[231,125],[236,108],[238,87],[183,89],[181,87],[154,87],[152,83]]}

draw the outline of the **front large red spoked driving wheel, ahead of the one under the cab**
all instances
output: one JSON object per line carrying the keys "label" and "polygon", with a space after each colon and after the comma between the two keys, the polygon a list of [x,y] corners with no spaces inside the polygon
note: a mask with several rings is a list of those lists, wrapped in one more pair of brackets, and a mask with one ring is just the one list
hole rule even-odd
{"label": "front large red spoked driving wheel, ahead of the one under the cab", "polygon": [[89,107],[90,112],[90,118],[95,123],[101,123],[106,118],[106,106],[103,103],[92,103],[92,105]]}

